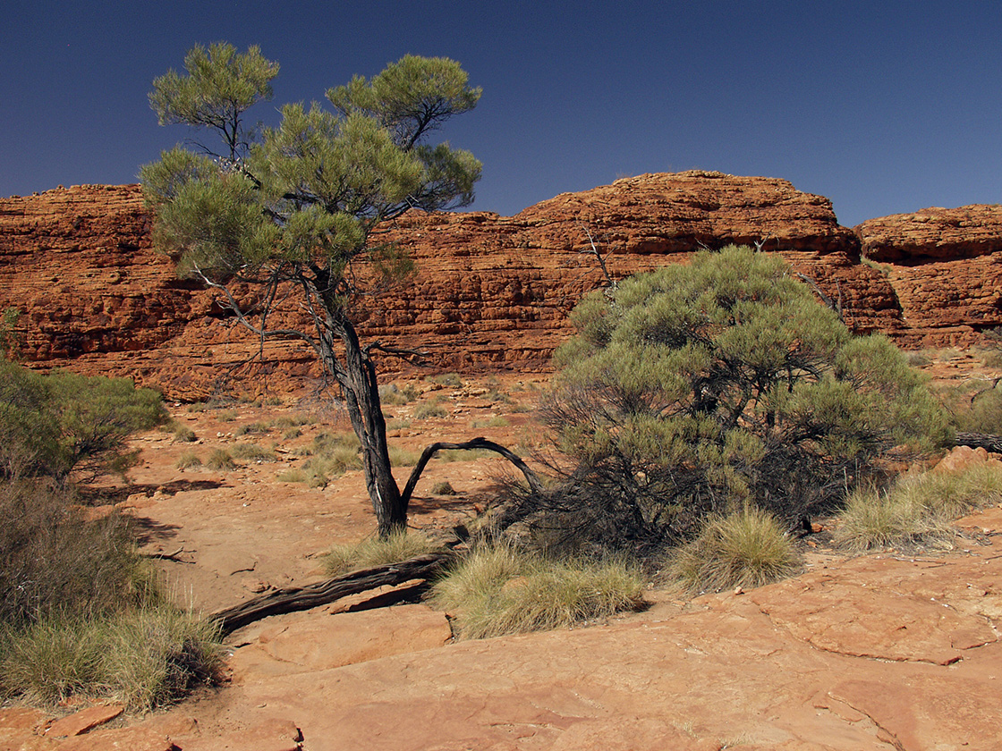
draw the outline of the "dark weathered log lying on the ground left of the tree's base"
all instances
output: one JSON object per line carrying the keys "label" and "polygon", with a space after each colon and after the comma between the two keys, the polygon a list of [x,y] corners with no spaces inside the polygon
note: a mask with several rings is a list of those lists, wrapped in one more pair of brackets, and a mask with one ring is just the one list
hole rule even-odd
{"label": "dark weathered log lying on the ground left of the tree's base", "polygon": [[268,616],[310,610],[377,587],[394,586],[414,579],[427,579],[451,556],[451,552],[430,553],[388,566],[354,571],[306,587],[289,587],[256,597],[232,608],[217,611],[208,618],[219,624],[223,635],[230,634]]}

